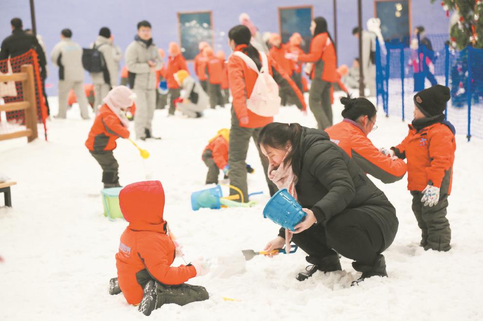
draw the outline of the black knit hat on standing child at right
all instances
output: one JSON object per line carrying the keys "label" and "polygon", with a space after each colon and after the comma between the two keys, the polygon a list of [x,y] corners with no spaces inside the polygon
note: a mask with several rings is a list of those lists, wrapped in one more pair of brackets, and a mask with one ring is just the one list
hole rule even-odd
{"label": "black knit hat on standing child at right", "polygon": [[414,95],[414,104],[426,117],[443,114],[451,98],[449,88],[436,84]]}

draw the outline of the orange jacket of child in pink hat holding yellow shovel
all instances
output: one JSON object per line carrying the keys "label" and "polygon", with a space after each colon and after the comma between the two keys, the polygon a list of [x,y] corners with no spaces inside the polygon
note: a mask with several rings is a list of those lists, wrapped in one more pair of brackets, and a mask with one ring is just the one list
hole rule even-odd
{"label": "orange jacket of child in pink hat holding yellow shovel", "polygon": [[104,104],[90,128],[86,147],[92,152],[112,151],[117,147],[116,139],[119,137],[128,138],[129,131],[116,114]]}

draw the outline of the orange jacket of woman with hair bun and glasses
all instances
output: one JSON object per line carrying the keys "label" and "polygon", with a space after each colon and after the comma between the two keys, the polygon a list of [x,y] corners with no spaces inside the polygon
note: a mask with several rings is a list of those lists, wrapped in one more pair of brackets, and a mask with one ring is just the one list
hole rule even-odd
{"label": "orange jacket of woman with hair bun and glasses", "polygon": [[394,183],[406,174],[406,163],[402,159],[392,160],[379,152],[355,121],[344,118],[325,132],[363,171],[383,183]]}

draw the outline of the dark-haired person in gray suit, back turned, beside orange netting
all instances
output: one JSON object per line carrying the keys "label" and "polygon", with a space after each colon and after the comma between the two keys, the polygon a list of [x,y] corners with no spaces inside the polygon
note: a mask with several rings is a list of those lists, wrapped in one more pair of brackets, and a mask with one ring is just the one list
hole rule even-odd
{"label": "dark-haired person in gray suit, back turned, beside orange netting", "polygon": [[55,118],[66,118],[67,98],[74,90],[81,110],[81,117],[89,119],[88,101],[84,92],[84,68],[82,67],[82,47],[71,40],[72,31],[62,30],[60,42],[52,50],[52,63],[59,68],[59,112]]}

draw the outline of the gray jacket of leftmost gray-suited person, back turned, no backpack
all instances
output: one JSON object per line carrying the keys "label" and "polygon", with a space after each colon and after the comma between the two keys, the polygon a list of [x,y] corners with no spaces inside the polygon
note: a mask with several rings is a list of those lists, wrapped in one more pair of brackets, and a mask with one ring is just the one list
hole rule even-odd
{"label": "gray jacket of leftmost gray-suited person, back turned, no backpack", "polygon": [[59,80],[84,81],[82,47],[78,43],[70,38],[60,40],[52,50],[51,60],[59,68]]}

